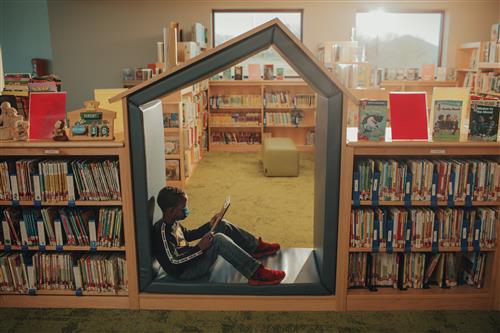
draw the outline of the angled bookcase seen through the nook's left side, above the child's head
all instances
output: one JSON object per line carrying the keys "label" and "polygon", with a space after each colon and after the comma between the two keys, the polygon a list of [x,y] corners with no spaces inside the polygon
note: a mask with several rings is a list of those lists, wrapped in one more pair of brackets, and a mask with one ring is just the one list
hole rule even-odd
{"label": "angled bookcase seen through the nook's left side, above the child's head", "polygon": [[168,185],[183,188],[205,147],[206,81],[162,99],[165,131],[165,176]]}

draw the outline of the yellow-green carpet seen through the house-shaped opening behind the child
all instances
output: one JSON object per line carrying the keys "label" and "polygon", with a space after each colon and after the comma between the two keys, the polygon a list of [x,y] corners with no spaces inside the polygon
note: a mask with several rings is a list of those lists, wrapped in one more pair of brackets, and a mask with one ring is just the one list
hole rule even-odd
{"label": "yellow-green carpet seen through the house-shaped opening behind the child", "polygon": [[298,177],[266,177],[259,160],[260,153],[206,153],[186,187],[185,226],[208,221],[230,195],[232,223],[284,247],[313,247],[314,154],[301,154]]}

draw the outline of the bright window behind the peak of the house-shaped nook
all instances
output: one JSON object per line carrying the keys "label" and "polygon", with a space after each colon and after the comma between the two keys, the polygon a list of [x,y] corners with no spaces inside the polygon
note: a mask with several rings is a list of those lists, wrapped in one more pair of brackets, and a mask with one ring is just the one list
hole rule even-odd
{"label": "bright window behind the peak of the house-shaped nook", "polygon": [[[256,26],[274,18],[279,18],[295,36],[302,40],[302,10],[284,11],[213,11],[213,44],[220,45],[225,41],[247,32]],[[248,64],[274,64],[274,68],[284,68],[285,76],[297,76],[297,73],[273,49],[262,51],[245,60],[243,75],[248,75]],[[263,69],[261,69],[263,72]]]}

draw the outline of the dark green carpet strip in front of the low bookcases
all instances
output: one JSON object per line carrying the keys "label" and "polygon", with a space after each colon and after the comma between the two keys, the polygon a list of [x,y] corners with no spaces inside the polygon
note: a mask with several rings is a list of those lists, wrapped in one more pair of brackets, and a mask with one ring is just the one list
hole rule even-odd
{"label": "dark green carpet strip in front of the low bookcases", "polygon": [[500,332],[500,312],[183,312],[0,309],[0,332]]}

